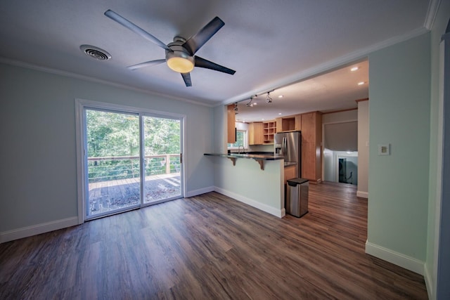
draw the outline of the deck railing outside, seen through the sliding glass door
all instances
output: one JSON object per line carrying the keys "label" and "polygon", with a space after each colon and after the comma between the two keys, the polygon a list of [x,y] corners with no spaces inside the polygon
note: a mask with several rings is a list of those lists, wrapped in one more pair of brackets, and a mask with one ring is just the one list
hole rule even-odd
{"label": "deck railing outside, seen through the sliding glass door", "polygon": [[[146,155],[146,176],[180,171],[180,155]],[[139,177],[139,156],[89,157],[89,183]]]}

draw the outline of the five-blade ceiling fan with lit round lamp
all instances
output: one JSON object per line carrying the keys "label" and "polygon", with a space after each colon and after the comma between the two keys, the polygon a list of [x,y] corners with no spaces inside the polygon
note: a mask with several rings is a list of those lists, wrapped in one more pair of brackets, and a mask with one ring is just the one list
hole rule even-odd
{"label": "five-blade ceiling fan with lit round lamp", "polygon": [[127,27],[132,32],[139,34],[144,39],[148,39],[161,48],[164,48],[166,51],[165,59],[150,60],[145,63],[130,65],[128,68],[131,70],[136,70],[141,67],[148,67],[150,65],[158,65],[160,63],[167,63],[170,69],[181,74],[186,86],[192,86],[190,72],[194,67],[204,67],[206,69],[224,72],[231,75],[236,72],[228,67],[218,65],[210,60],[205,60],[205,58],[200,58],[200,56],[194,55],[198,49],[200,49],[216,32],[219,31],[219,29],[221,29],[222,26],[225,25],[224,21],[220,20],[219,17],[212,19],[209,23],[207,23],[207,25],[205,25],[205,27],[189,39],[186,40],[183,37],[174,37],[174,41],[166,45],[156,37],[153,37],[152,34],[146,32],[141,27],[133,24],[114,11],[108,9],[108,11],[105,11],[105,15],[108,18],[115,20],[120,25]]}

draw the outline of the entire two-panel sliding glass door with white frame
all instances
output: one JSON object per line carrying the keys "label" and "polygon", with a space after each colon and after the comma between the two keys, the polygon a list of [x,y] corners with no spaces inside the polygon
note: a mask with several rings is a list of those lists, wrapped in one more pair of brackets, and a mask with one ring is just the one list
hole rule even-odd
{"label": "entire two-panel sliding glass door with white frame", "polygon": [[80,223],[183,197],[184,117],[85,102],[77,101]]}

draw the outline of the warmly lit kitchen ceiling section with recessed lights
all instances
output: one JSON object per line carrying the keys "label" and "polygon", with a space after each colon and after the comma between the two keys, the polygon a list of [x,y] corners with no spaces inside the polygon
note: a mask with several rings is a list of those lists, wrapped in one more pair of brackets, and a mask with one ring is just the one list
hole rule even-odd
{"label": "warmly lit kitchen ceiling section with recessed lights", "polygon": [[[352,67],[358,70],[352,71]],[[359,83],[364,83],[359,85]],[[356,100],[368,98],[368,61],[362,60],[338,70],[304,79],[267,94],[238,103],[239,122],[261,122],[303,112],[330,112],[358,107]],[[283,96],[283,98],[278,98]]]}

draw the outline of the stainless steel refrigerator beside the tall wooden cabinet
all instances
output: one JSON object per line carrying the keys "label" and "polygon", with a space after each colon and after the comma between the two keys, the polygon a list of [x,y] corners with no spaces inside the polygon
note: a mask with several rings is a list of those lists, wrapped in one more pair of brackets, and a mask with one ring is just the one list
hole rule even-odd
{"label": "stainless steel refrigerator beside the tall wooden cabinet", "polygon": [[274,136],[274,155],[283,155],[285,165],[295,162],[295,174],[302,177],[302,133],[301,131],[279,132]]}

